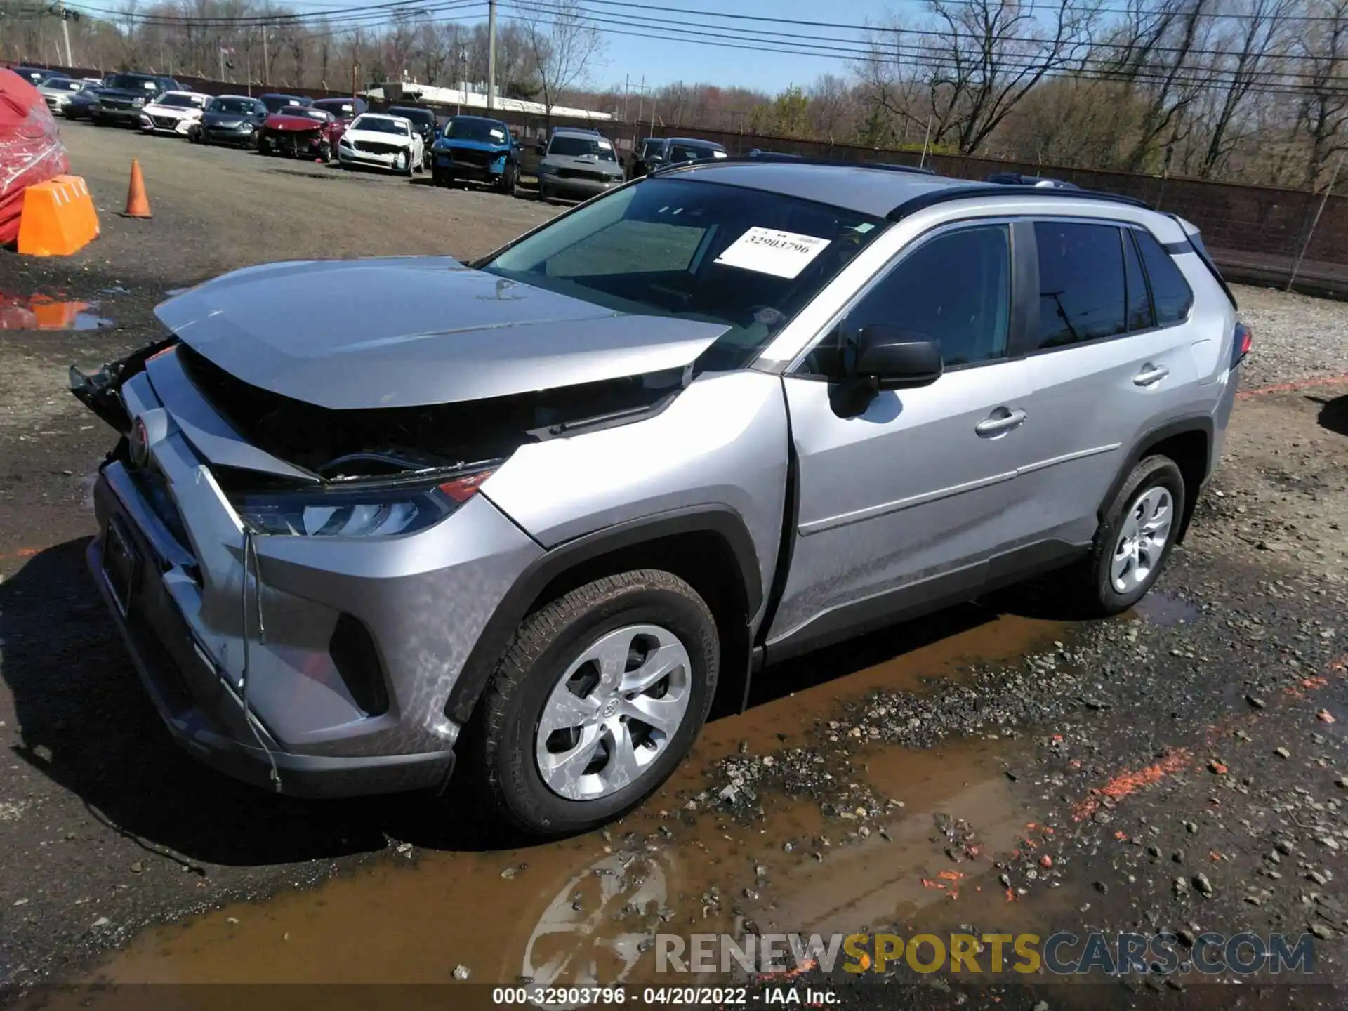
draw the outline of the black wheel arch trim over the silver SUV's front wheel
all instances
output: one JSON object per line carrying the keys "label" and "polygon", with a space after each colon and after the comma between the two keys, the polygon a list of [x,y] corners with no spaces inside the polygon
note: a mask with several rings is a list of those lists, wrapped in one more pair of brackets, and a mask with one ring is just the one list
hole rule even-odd
{"label": "black wheel arch trim over the silver SUV's front wheel", "polygon": [[[744,519],[729,506],[669,510],[582,534],[549,549],[506,592],[454,679],[449,700],[445,702],[445,714],[460,725],[472,718],[477,700],[496,671],[500,658],[510,648],[515,631],[538,604],[549,584],[576,566],[601,555],[679,534],[714,534],[725,541],[737,562],[747,617],[756,615],[763,605],[763,578],[759,573],[758,551],[754,549],[754,538]],[[745,638],[745,644],[747,642]],[[724,659],[735,662],[729,656]]]}

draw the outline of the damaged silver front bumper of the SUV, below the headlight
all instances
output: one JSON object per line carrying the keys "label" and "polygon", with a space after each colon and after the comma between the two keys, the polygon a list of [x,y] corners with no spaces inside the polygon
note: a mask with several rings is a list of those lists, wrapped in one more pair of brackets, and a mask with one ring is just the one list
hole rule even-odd
{"label": "damaged silver front bumper of the SUV, below the headlight", "polygon": [[[445,716],[450,689],[542,549],[479,495],[407,537],[257,537],[245,573],[237,515],[197,452],[232,433],[177,355],[121,392],[150,433],[148,462],[101,468],[89,565],[173,736],[209,766],[286,794],[443,782],[460,731]],[[342,621],[364,630],[368,652],[338,656]],[[363,661],[357,673],[380,679],[381,712],[357,702],[352,655]]]}

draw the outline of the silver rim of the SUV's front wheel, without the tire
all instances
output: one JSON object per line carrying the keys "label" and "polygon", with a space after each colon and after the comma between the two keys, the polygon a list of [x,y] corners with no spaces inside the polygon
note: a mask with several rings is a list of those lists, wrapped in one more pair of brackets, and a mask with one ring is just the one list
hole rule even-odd
{"label": "silver rim of the SUV's front wheel, without the tire", "polygon": [[593,801],[638,782],[687,714],[692,661],[659,625],[608,632],[572,662],[535,729],[538,771],[549,790]]}

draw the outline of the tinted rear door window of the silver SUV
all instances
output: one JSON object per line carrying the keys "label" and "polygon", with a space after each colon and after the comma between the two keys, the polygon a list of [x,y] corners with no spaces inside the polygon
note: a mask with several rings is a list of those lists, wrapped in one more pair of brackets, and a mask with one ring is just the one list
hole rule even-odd
{"label": "tinted rear door window of the silver SUV", "polygon": [[1037,221],[1039,348],[1127,333],[1123,241],[1115,225]]}

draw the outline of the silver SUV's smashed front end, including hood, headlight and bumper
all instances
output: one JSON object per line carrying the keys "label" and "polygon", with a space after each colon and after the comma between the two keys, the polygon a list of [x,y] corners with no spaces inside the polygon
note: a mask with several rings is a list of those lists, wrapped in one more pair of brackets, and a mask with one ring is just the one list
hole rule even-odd
{"label": "silver SUV's smashed front end, including hood, headlight and bumper", "polygon": [[443,257],[248,268],[156,314],[171,336],[71,368],[121,435],[89,565],[174,736],[297,795],[445,782],[450,689],[543,553],[480,491],[520,446],[659,412],[724,329],[632,340]]}

